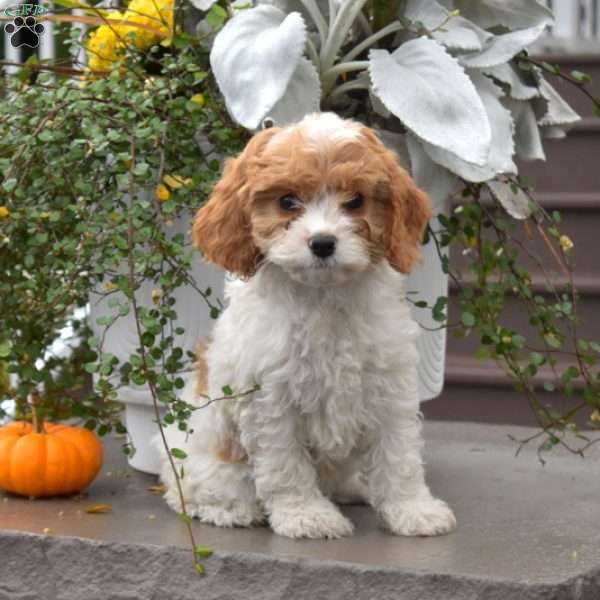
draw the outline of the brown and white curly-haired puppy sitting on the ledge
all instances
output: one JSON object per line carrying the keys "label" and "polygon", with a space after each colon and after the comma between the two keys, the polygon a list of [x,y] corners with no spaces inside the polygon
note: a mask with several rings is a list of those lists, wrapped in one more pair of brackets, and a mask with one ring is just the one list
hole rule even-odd
{"label": "brown and white curly-haired puppy sitting on the ledge", "polygon": [[[404,298],[430,216],[376,134],[334,114],[262,131],[226,163],[193,238],[237,279],[184,399],[234,397],[194,411],[187,436],[167,429],[191,515],[338,538],[353,525],[335,502],[365,501],[395,534],[455,527],[424,479]],[[179,512],[166,456],[161,477]]]}

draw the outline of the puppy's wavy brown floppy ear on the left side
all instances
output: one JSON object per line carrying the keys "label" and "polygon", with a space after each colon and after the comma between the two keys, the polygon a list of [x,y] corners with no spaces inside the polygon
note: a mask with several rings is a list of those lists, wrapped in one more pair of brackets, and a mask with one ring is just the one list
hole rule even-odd
{"label": "puppy's wavy brown floppy ear on the left side", "polygon": [[256,159],[277,131],[273,127],[257,133],[237,158],[226,161],[221,180],[192,228],[193,242],[207,260],[242,277],[253,275],[260,262],[252,240],[249,179]]}

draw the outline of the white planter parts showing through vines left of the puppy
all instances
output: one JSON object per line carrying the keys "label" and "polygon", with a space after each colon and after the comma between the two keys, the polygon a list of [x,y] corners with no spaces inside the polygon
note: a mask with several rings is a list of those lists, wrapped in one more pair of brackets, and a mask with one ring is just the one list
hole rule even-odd
{"label": "white planter parts showing through vines left of the puppy", "polygon": [[[175,220],[169,232],[173,235],[183,233],[187,235],[190,229],[191,216],[181,217]],[[213,303],[217,298],[223,299],[223,271],[207,265],[202,261],[198,253],[193,261],[190,273],[201,290],[212,288],[211,299]],[[145,281],[136,292],[136,299],[140,306],[152,307],[152,290],[157,284]],[[108,307],[108,299],[115,297],[120,292],[98,301],[98,296],[90,298],[90,325],[95,335],[101,336],[104,328],[96,324],[96,319],[101,315],[114,314],[114,309]],[[184,330],[182,335],[175,336],[175,346],[181,347],[184,352],[195,352],[200,339],[209,335],[214,320],[210,318],[210,311],[200,294],[192,286],[182,286],[174,293],[176,299],[175,310],[177,312],[176,327]],[[120,295],[124,300],[124,296]],[[127,361],[135,349],[139,346],[138,334],[132,311],[120,317],[106,332],[104,351],[114,354],[119,361]],[[190,373],[182,374],[184,379]],[[118,381],[115,380],[115,383]],[[147,473],[158,472],[158,454],[151,445],[152,438],[158,432],[152,395],[147,385],[135,385],[120,388],[119,400],[126,404],[126,425],[130,441],[135,447],[135,453],[131,456],[129,464],[140,471]]]}

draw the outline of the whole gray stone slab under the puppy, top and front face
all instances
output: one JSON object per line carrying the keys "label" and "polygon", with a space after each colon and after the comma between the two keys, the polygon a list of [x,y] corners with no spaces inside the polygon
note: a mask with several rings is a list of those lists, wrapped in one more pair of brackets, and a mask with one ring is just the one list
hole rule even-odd
{"label": "whole gray stone slab under the puppy, top and front face", "polygon": [[[515,457],[508,438],[530,429],[425,432],[428,479],[454,508],[455,533],[394,537],[362,506],[344,509],[355,535],[334,541],[195,523],[197,542],[215,551],[204,577],[184,525],[148,490],[155,478],[131,471],[112,440],[83,497],[0,499],[0,600],[600,600],[599,447],[542,466],[533,447]],[[85,512],[97,503],[111,512]]]}

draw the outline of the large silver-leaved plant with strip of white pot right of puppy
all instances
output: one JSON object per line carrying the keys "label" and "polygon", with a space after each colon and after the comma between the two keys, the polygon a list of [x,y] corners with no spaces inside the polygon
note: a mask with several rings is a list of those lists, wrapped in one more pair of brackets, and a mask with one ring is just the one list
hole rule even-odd
{"label": "large silver-leaved plant with strip of white pot right of puppy", "polygon": [[[382,131],[436,214],[448,214],[461,179],[493,180],[492,193],[523,217],[527,201],[508,183],[515,155],[543,158],[544,133],[578,119],[542,70],[523,62],[551,22],[535,0],[259,0],[216,36],[211,65],[230,114],[250,130],[266,117],[285,124],[333,110]],[[420,339],[425,400],[443,384],[446,329],[436,328],[431,308],[447,296],[448,274],[433,239],[424,254],[408,290],[428,329]]]}

